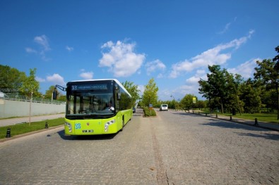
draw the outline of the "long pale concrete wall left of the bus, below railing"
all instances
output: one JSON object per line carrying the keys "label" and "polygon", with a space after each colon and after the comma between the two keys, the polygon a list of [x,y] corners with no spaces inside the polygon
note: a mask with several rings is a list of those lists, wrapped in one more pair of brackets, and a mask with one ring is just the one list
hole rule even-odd
{"label": "long pale concrete wall left of the bus, below railing", "polygon": [[[0,98],[0,118],[23,117],[29,115],[30,102],[11,101]],[[50,103],[31,103],[31,115],[50,115],[65,113],[66,105]]]}

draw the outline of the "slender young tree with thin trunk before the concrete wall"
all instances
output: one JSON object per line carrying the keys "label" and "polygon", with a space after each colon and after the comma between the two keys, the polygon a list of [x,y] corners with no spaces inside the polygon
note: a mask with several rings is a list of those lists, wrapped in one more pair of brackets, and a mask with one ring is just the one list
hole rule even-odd
{"label": "slender young tree with thin trunk before the concrete wall", "polygon": [[33,94],[38,93],[40,84],[35,79],[36,75],[36,68],[33,70],[30,69],[30,75],[29,77],[25,77],[23,81],[22,87],[20,87],[20,91],[23,91],[24,94],[26,94],[28,97],[30,97],[30,106],[29,106],[29,125],[30,125],[30,119],[31,119],[31,103],[32,103],[32,96]]}

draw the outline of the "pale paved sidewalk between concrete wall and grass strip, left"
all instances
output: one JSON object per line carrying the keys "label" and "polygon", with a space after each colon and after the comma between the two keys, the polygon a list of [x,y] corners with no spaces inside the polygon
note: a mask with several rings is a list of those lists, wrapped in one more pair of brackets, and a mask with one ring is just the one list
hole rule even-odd
{"label": "pale paved sidewalk between concrete wall and grass strip, left", "polygon": [[[55,115],[36,115],[31,116],[31,122],[40,122],[42,120],[53,120],[59,117],[64,117],[65,114],[55,114]],[[0,127],[8,126],[8,125],[16,125],[29,122],[29,117],[15,117],[15,118],[8,118],[0,120]]]}

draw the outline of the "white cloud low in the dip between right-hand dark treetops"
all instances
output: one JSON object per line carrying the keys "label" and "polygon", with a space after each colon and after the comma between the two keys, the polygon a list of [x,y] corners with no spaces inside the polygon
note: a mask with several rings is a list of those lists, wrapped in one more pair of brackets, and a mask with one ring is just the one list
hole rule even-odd
{"label": "white cloud low in the dip between right-hand dark treetops", "polygon": [[253,78],[255,68],[257,67],[257,64],[256,64],[257,60],[261,60],[261,59],[254,58],[254,59],[248,60],[245,63],[238,65],[236,68],[227,69],[227,72],[230,72],[232,74],[242,75],[242,77],[244,77],[245,79],[248,79],[249,77]]}

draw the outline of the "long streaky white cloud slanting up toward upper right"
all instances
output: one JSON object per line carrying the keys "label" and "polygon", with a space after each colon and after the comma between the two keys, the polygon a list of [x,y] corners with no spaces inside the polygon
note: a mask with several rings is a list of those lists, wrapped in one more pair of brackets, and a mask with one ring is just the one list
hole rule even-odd
{"label": "long streaky white cloud slanting up toward upper right", "polygon": [[[208,65],[222,65],[230,60],[232,51],[238,49],[239,46],[247,42],[247,39],[251,38],[251,34],[254,30],[249,32],[247,37],[242,37],[240,39],[234,39],[226,44],[220,44],[215,46],[213,49],[208,49],[203,53],[191,58],[190,60],[184,60],[179,63],[172,65],[172,71],[170,72],[171,78],[176,78],[183,72],[191,72],[198,68],[208,68]],[[230,51],[227,51],[230,49]],[[227,53],[222,53],[222,51],[227,51]]]}

